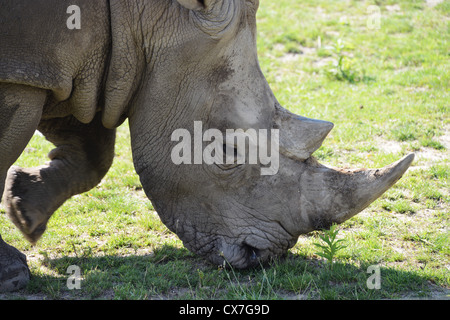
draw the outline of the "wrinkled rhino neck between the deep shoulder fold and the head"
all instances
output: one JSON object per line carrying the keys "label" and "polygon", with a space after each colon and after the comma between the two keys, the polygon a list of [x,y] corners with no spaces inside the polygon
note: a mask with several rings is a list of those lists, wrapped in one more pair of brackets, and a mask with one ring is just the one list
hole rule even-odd
{"label": "wrinkled rhino neck between the deep shoulder fold and the head", "polygon": [[182,25],[188,19],[181,19],[181,14],[187,12],[171,1],[110,1],[112,46],[105,85],[105,127],[116,127],[123,115],[130,113],[145,83],[155,78],[154,70],[162,68],[167,48],[173,51],[174,43],[189,34]]}

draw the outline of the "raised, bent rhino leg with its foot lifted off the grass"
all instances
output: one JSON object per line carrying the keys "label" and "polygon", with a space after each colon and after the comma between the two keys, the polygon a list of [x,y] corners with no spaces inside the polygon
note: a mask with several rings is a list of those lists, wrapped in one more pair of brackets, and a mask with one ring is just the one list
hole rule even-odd
{"label": "raised, bent rhino leg with its foot lifted off the grass", "polygon": [[9,218],[35,244],[51,215],[70,197],[95,187],[114,158],[115,130],[98,114],[89,124],[73,117],[43,120],[39,131],[56,148],[50,162],[36,168],[12,167],[5,187]]}

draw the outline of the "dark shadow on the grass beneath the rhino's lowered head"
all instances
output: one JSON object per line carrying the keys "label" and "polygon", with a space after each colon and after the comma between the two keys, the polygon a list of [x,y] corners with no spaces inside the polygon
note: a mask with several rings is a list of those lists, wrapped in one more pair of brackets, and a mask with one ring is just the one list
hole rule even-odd
{"label": "dark shadow on the grass beneath the rhino's lowered head", "polygon": [[[36,299],[398,299],[427,298],[430,285],[414,271],[379,266],[380,289],[371,289],[370,262],[337,262],[288,253],[249,270],[223,269],[185,248],[164,245],[151,255],[44,259],[26,289],[11,298]],[[70,290],[80,270],[80,289]],[[377,265],[375,265],[377,268]],[[370,278],[372,276],[372,278]],[[369,283],[369,285],[368,285]]]}

